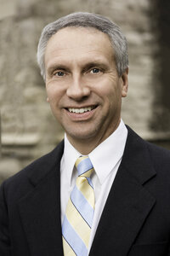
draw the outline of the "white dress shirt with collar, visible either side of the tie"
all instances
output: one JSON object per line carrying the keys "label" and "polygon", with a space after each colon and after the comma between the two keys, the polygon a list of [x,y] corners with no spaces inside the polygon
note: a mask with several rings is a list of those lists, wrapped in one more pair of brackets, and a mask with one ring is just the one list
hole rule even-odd
{"label": "white dress shirt with collar, visible either side of the tie", "polygon": [[[121,120],[116,131],[88,154],[95,171],[91,177],[94,184],[95,211],[88,252],[94,240],[94,235],[99,224],[99,218],[105,207],[105,202],[111,190],[111,185],[116,177],[118,167],[121,164],[126,141],[127,128]],[[69,143],[65,136],[65,149],[60,166],[61,223],[65,216],[65,210],[71,191],[76,183],[77,170],[74,166],[80,155],[82,154]]]}

